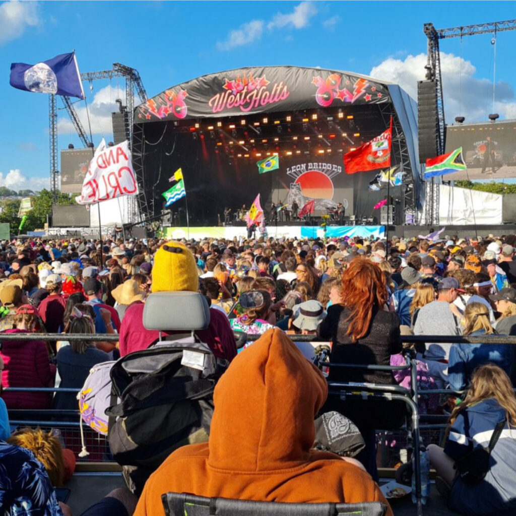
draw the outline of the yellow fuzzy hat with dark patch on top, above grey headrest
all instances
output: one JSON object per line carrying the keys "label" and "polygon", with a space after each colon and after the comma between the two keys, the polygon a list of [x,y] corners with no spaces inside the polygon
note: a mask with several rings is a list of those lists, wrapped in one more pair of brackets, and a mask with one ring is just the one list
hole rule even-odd
{"label": "yellow fuzzy hat with dark patch on top, above grey headrest", "polygon": [[195,256],[184,244],[169,241],[158,249],[152,267],[152,292],[197,292],[199,275]]}

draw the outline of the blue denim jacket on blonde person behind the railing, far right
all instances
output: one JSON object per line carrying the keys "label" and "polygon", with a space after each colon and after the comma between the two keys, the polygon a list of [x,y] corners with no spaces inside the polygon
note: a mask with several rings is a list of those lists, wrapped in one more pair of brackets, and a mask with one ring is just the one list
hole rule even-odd
{"label": "blue denim jacket on blonde person behind the railing, far right", "polygon": [[[478,330],[472,335],[483,335]],[[511,344],[453,344],[448,359],[448,382],[450,389],[462,391],[467,387],[475,367],[495,364],[511,377],[513,347]]]}

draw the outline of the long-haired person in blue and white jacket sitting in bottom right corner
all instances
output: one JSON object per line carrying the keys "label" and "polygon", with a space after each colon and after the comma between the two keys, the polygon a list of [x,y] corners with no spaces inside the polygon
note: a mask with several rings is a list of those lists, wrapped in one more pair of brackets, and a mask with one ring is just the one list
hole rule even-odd
{"label": "long-haired person in blue and white jacket sitting in bottom right corner", "polygon": [[[455,462],[479,446],[486,447],[498,423],[505,426],[491,451],[486,477],[470,485],[457,475]],[[428,446],[436,486],[448,498],[450,509],[468,516],[514,514],[516,510],[516,397],[503,369],[478,367],[464,400],[451,413],[444,449]]]}

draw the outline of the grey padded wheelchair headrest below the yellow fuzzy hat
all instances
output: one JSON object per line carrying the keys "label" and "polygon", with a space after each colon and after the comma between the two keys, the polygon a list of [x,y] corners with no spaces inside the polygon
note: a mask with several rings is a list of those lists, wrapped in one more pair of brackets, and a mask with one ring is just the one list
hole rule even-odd
{"label": "grey padded wheelchair headrest below the yellow fuzzy hat", "polygon": [[198,292],[156,292],[147,297],[143,326],[148,330],[204,330],[208,325],[208,303]]}

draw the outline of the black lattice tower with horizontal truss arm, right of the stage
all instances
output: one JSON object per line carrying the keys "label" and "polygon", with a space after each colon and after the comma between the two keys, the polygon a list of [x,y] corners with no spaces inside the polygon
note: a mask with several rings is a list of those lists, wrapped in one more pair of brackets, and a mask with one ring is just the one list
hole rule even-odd
{"label": "black lattice tower with horizontal truss arm, right of the stage", "polygon": [[[516,29],[516,20],[502,22],[479,23],[476,25],[463,25],[461,27],[449,27],[436,29],[433,23],[425,23],[423,32],[427,37],[427,62],[425,66],[425,80],[420,83],[433,81],[435,87],[435,114],[437,123],[436,153],[444,154],[446,144],[446,124],[444,119],[443,85],[441,77],[441,58],[439,52],[439,40],[448,38],[462,38],[463,36],[476,36],[478,34],[496,34],[506,30]],[[428,224],[439,222],[439,189],[434,185],[433,178],[427,183],[426,221]]]}

